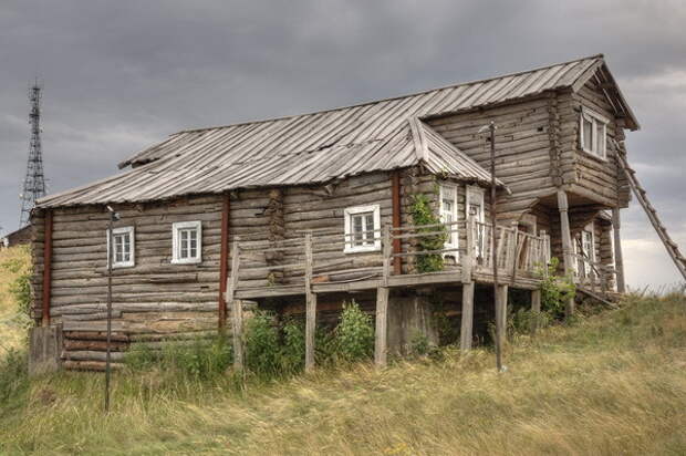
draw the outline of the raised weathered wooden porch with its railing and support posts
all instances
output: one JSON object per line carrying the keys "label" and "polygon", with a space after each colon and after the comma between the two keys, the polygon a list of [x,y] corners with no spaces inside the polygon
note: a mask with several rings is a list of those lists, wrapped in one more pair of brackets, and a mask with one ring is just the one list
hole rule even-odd
{"label": "raised weathered wooden porch with its railing and support posts", "polygon": [[[427,249],[432,243],[439,247]],[[355,246],[366,249],[345,252]],[[426,258],[439,267],[426,268],[422,265]],[[493,232],[491,225],[469,218],[420,226],[386,225],[380,230],[353,235],[310,230],[291,239],[235,238],[226,302],[231,304],[237,366],[242,366],[242,300],[304,297],[305,366],[311,369],[318,297],[364,290],[376,291],[378,365],[386,362],[388,297],[393,289],[461,286],[460,342],[469,349],[475,284],[493,283],[493,260],[498,266],[500,307],[507,305],[508,287],[532,290],[537,297],[533,300],[540,302],[537,290],[550,260],[550,237],[544,232],[536,236],[519,231],[517,225],[497,226]],[[499,314],[505,319],[505,312]]]}

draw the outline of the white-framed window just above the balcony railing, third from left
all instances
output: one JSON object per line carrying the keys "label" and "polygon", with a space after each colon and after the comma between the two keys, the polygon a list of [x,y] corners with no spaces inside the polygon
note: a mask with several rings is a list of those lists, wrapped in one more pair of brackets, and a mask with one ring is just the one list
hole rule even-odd
{"label": "white-framed window just above the balcony railing, third from left", "polygon": [[346,253],[381,250],[381,208],[355,206],[344,210]]}

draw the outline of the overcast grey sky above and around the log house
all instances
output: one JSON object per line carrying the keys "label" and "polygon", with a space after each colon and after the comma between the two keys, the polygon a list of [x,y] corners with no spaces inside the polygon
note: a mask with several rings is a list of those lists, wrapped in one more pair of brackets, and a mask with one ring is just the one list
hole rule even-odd
{"label": "overcast grey sky above and around the log house", "polygon": [[[0,3],[0,226],[19,222],[29,82],[44,82],[49,193],[175,131],[315,111],[604,53],[642,124],[630,162],[686,248],[686,2]],[[630,284],[678,276],[634,201]]]}

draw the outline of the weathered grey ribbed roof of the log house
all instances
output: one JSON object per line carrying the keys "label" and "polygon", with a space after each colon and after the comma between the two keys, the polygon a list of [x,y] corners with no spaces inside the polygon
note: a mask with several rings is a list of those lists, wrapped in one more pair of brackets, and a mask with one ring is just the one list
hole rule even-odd
{"label": "weathered grey ribbed roof of the log house", "polygon": [[133,169],[48,196],[39,207],[323,183],[419,162],[435,172],[488,182],[485,169],[425,124],[419,134],[428,153],[418,155],[410,121],[570,87],[602,64],[602,55],[595,55],[337,110],[179,132],[121,164],[136,165]]}

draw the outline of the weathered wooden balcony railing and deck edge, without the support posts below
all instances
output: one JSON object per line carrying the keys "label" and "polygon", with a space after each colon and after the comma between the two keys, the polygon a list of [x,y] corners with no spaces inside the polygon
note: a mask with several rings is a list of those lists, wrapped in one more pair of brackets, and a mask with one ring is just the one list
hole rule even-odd
{"label": "weathered wooden balcony railing and deck edge, without the support posts below", "polygon": [[[422,247],[433,239],[453,237],[458,241],[443,248]],[[347,236],[312,230],[273,241],[235,239],[227,301],[378,287],[492,283],[491,237],[490,225],[470,219],[402,228],[385,226]],[[532,236],[516,227],[496,227],[499,281],[517,288],[537,288],[537,270],[550,259],[549,246],[547,235]],[[361,247],[362,251],[345,252],[351,247]],[[418,262],[425,256],[443,258],[443,268],[422,272]]]}

